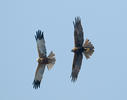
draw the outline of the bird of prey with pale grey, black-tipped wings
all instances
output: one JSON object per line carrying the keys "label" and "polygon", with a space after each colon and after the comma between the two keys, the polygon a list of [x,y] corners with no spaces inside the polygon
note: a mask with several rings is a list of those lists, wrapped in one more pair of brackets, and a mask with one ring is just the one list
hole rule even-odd
{"label": "bird of prey with pale grey, black-tipped wings", "polygon": [[36,32],[35,39],[37,42],[39,58],[37,59],[38,66],[35,72],[33,88],[37,89],[38,87],[40,88],[40,83],[43,78],[45,67],[47,66],[47,68],[50,70],[55,64],[56,59],[55,54],[52,51],[47,56],[44,35],[43,32],[41,32],[41,30],[38,30]]}

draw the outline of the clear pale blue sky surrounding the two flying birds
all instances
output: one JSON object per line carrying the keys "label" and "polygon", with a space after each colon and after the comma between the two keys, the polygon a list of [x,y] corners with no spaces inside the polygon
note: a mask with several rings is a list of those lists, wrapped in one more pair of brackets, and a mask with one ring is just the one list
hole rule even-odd
{"label": "clear pale blue sky surrounding the two flying birds", "polygon": [[[95,52],[72,83],[76,16]],[[56,64],[35,90],[38,29]],[[0,46],[0,100],[127,100],[126,0],[0,0]]]}

